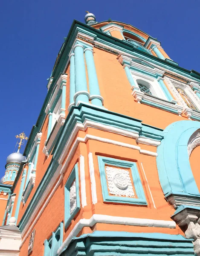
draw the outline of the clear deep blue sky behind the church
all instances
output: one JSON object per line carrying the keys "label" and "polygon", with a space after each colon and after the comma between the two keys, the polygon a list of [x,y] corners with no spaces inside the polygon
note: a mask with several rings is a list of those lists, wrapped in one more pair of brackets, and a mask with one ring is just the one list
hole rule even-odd
{"label": "clear deep blue sky behind the church", "polygon": [[198,0],[7,0],[0,7],[0,176],[14,151],[14,135],[27,136],[47,93],[57,53],[73,19],[85,11],[97,21],[111,18],[158,38],[181,67],[200,72]]}

